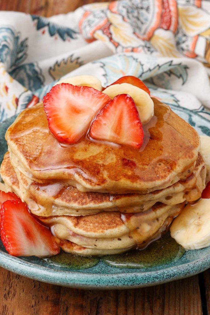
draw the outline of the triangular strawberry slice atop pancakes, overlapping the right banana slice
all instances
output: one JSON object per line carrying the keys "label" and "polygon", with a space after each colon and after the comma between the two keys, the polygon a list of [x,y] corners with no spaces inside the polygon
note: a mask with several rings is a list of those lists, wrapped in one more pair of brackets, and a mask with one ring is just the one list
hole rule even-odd
{"label": "triangular strawberry slice atop pancakes, overlapping the right banana slice", "polygon": [[132,97],[128,94],[115,96],[95,117],[89,135],[94,139],[140,148],[144,132]]}

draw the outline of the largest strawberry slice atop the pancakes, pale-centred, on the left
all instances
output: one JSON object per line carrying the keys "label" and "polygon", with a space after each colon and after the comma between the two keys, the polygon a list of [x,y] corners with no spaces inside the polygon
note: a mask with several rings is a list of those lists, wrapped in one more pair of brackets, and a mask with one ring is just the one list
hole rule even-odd
{"label": "largest strawberry slice atop the pancakes, pale-centred, on the left", "polygon": [[76,143],[87,133],[95,114],[110,100],[94,88],[57,84],[43,98],[49,129],[60,142]]}

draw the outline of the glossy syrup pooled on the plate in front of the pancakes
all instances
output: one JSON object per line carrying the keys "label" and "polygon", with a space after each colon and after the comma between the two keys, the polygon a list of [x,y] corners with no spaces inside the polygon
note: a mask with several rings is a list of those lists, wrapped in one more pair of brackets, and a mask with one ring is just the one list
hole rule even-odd
{"label": "glossy syrup pooled on the plate in front of the pancakes", "polygon": [[99,260],[117,268],[149,268],[175,262],[184,255],[184,252],[184,248],[167,233],[162,238],[148,244],[144,249],[132,250],[124,254],[96,258],[61,253],[47,258],[46,261],[49,264],[76,270],[94,266]]}

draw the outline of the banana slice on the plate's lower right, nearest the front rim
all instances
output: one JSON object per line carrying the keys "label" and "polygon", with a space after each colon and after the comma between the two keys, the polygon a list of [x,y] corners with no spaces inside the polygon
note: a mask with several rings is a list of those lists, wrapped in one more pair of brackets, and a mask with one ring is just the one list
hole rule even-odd
{"label": "banana slice on the plate's lower right, nearest the front rim", "polygon": [[174,219],[171,237],[185,249],[200,249],[210,245],[210,199],[187,204]]}

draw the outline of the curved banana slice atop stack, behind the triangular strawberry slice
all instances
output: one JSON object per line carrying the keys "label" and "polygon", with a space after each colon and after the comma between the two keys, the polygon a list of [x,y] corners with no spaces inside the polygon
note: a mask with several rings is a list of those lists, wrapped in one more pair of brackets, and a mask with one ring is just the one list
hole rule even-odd
{"label": "curved banana slice atop stack, behind the triangular strawberry slice", "polygon": [[113,99],[118,94],[130,95],[138,109],[141,123],[147,123],[154,115],[154,103],[148,93],[129,83],[110,85],[103,93]]}

